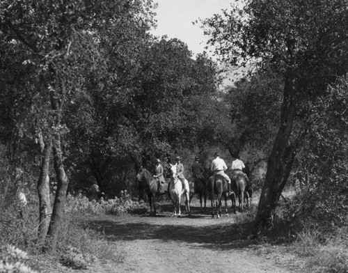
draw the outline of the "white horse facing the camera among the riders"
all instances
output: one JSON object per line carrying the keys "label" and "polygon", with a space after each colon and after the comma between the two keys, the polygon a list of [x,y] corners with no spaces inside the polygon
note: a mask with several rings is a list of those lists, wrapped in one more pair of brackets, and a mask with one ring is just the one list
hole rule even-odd
{"label": "white horse facing the camera among the riders", "polygon": [[173,214],[174,216],[179,216],[181,217],[181,209],[180,209],[180,205],[181,205],[181,197],[182,194],[184,194],[184,196],[186,196],[186,200],[185,200],[185,206],[186,206],[186,212],[188,214],[190,214],[190,197],[189,197],[189,181],[187,181],[186,179],[184,180],[185,183],[185,187],[187,189],[186,192],[184,192],[184,189],[182,188],[182,182],[180,181],[179,178],[177,178],[176,176],[176,167],[177,164],[172,165],[171,164],[171,185],[169,186],[169,192],[171,194],[171,200],[173,202],[174,205],[174,210],[173,210]]}

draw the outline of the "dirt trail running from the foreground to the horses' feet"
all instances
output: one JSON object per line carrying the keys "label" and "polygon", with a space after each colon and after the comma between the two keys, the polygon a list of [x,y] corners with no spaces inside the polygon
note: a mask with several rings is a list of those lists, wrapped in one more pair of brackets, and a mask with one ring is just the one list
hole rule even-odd
{"label": "dirt trail running from the foreground to the horses' feet", "polygon": [[243,238],[248,226],[237,223],[238,214],[212,219],[210,211],[200,214],[197,206],[191,216],[177,218],[170,210],[162,205],[157,217],[92,220],[122,256],[106,272],[290,272],[283,256],[258,255],[258,245]]}

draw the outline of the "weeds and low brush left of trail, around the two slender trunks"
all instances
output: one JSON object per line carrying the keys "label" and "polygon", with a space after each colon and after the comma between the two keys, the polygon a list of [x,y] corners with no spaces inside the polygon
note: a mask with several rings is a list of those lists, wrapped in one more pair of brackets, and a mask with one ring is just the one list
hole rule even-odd
{"label": "weeds and low brush left of trail, around the two slender trunks", "polygon": [[[88,269],[103,260],[122,263],[126,256],[125,249],[109,243],[104,233],[88,228],[84,220],[88,215],[102,217],[105,214],[142,214],[147,210],[143,201],[132,201],[127,191],[122,191],[119,197],[107,201],[89,201],[82,195],[68,195],[56,253],[51,258],[74,270]],[[26,208],[22,208],[22,214],[19,214],[19,206],[15,202],[1,214],[0,245],[8,246],[3,247],[0,252],[1,273],[34,272],[27,265],[30,259],[26,251],[38,258],[39,262],[33,263],[33,268],[37,270],[42,267],[42,260],[48,258],[48,254],[42,252],[44,245],[38,242],[37,214],[37,203],[29,203]],[[13,256],[13,253],[18,255]]]}

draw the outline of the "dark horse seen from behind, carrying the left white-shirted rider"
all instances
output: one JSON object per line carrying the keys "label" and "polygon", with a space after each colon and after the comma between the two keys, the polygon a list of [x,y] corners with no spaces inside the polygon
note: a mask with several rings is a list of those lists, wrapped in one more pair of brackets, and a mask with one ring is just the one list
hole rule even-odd
{"label": "dark horse seen from behind, carrying the left white-shirted rider", "polygon": [[221,217],[221,198],[225,198],[226,216],[228,215],[227,200],[228,200],[228,182],[220,175],[214,175],[209,181],[210,201],[212,203],[212,218],[214,218],[214,198],[216,194],[216,217]]}

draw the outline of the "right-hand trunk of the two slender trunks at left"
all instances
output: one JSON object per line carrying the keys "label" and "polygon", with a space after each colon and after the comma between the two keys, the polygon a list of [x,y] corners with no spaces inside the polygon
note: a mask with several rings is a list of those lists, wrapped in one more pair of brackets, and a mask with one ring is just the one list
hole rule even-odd
{"label": "right-hand trunk of the two slender trunks at left", "polygon": [[57,190],[56,198],[54,198],[51,223],[49,224],[49,230],[47,233],[47,239],[49,240],[51,251],[55,251],[56,249],[58,233],[61,230],[61,224],[64,220],[64,208],[68,189],[68,177],[66,176],[63,167],[61,135],[59,133],[55,135],[53,142],[54,170],[56,171]]}

